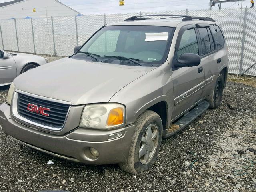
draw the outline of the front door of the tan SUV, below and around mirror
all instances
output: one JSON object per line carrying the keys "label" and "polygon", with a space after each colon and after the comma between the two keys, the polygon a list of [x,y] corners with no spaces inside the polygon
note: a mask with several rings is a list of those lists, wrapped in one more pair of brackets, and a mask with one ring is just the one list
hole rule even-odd
{"label": "front door of the tan SUV, below and around mirror", "polygon": [[[199,54],[199,38],[194,24],[181,28],[176,42],[174,61],[184,53]],[[204,66],[174,68],[172,66],[174,86],[174,112],[176,118],[201,98],[204,87]]]}

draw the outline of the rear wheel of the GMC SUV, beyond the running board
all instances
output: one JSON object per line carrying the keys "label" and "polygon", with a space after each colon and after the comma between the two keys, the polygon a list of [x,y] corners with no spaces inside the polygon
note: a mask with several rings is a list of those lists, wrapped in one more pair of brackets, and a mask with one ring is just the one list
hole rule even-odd
{"label": "rear wheel of the GMC SUV, beyond the running board", "polygon": [[210,99],[210,109],[216,109],[220,106],[220,102],[222,99],[224,89],[224,77],[222,74],[219,74],[214,89],[212,91],[211,99]]}

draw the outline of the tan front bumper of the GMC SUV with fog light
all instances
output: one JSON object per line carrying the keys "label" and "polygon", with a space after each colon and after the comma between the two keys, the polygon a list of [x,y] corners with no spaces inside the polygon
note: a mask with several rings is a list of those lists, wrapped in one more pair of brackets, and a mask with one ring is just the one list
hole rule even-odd
{"label": "tan front bumper of the GMC SUV with fog light", "polygon": [[[128,156],[135,125],[115,130],[77,128],[65,135],[36,130],[14,120],[10,106],[0,105],[1,129],[14,140],[53,156],[85,164],[114,164],[124,162]],[[108,140],[110,134],[122,132],[119,138]],[[99,152],[97,158],[90,148]],[[93,157],[93,158],[92,158]]]}

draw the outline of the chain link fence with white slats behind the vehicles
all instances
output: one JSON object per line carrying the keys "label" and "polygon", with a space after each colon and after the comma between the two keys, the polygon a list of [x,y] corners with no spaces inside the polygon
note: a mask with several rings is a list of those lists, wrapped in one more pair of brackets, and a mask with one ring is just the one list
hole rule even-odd
{"label": "chain link fence with white slats behind the vehicles", "polygon": [[[221,26],[229,50],[229,72],[256,76],[256,8],[140,12],[211,17]],[[104,14],[0,20],[0,49],[69,56],[105,24],[134,16]],[[159,16],[161,18],[162,16]],[[180,18],[177,18],[180,19]]]}

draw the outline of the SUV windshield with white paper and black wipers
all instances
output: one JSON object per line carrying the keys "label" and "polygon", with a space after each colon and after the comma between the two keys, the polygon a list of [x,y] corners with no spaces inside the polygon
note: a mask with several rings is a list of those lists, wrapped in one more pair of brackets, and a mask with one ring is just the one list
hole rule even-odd
{"label": "SUV windshield with white paper and black wipers", "polygon": [[86,42],[76,56],[114,64],[162,64],[170,48],[172,30],[164,26],[105,26]]}

